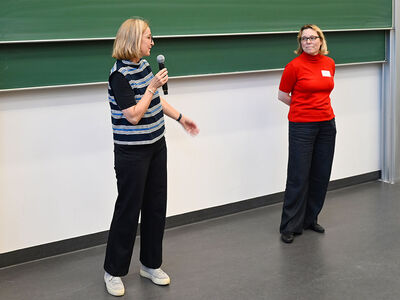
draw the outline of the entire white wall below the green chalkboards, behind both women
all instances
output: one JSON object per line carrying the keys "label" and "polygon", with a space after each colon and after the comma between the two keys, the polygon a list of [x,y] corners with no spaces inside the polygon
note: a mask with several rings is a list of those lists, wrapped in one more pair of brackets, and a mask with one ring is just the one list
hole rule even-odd
{"label": "entire white wall below the green chalkboards, behind both women", "polygon": [[[381,66],[339,67],[332,179],[380,169]],[[168,216],[284,190],[281,72],[174,79]],[[116,197],[106,86],[0,93],[0,253],[107,230]]]}

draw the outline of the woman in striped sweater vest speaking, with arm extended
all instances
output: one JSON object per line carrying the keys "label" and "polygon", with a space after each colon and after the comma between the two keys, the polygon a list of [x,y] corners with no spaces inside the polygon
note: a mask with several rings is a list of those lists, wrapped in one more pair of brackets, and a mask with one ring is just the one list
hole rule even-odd
{"label": "woman in striped sweater vest speaking, with arm extended", "polygon": [[122,296],[121,276],[128,273],[139,213],[140,275],[168,285],[160,269],[167,202],[167,148],[164,115],[177,120],[191,135],[197,125],[160,97],[158,88],[168,81],[167,69],[153,75],[149,56],[154,41],[148,23],[128,19],[118,30],[109,77],[108,99],[114,136],[118,198],[104,262],[107,291]]}

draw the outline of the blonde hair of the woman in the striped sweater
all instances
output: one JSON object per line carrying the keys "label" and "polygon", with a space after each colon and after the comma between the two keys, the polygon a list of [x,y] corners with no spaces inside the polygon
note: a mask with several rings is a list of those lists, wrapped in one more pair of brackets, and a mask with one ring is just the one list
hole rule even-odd
{"label": "blonde hair of the woman in the striped sweater", "polygon": [[142,36],[148,27],[146,20],[136,17],[122,23],[115,37],[112,57],[121,60],[141,58]]}

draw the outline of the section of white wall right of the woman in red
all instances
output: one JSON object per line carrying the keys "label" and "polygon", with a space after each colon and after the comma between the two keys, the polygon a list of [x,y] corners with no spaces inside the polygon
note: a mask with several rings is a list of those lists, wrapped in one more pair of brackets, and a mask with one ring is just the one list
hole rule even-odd
{"label": "section of white wall right of the woman in red", "polygon": [[331,180],[378,171],[381,65],[337,68],[332,105],[338,135]]}

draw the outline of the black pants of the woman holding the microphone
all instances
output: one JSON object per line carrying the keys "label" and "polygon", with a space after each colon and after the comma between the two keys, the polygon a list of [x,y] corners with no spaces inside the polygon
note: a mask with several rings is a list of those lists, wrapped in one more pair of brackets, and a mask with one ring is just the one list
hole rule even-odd
{"label": "black pants of the woman holding the microphone", "polygon": [[113,276],[128,273],[140,211],[140,261],[146,267],[159,268],[167,206],[165,139],[151,145],[116,146],[114,153],[118,198],[104,269]]}

